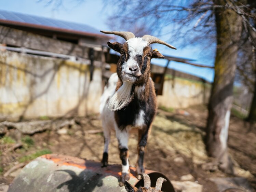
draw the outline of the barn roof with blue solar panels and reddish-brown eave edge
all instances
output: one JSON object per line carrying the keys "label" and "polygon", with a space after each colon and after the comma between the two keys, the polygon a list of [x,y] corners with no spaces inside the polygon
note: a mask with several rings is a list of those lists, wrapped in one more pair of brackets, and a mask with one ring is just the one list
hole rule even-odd
{"label": "barn roof with blue solar panels and reddish-brown eave edge", "polygon": [[4,10],[0,10],[0,24],[73,33],[81,36],[106,37],[89,25]]}

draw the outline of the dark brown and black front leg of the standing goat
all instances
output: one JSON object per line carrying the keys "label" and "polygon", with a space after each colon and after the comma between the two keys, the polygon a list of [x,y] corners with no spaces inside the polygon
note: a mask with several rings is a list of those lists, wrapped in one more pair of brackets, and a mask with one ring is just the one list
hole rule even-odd
{"label": "dark brown and black front leg of the standing goat", "polygon": [[139,137],[138,137],[138,160],[136,163],[136,172],[137,172],[137,178],[140,179],[140,175],[138,173],[144,173],[145,167],[144,167],[144,153],[147,145],[148,140],[148,127],[142,127],[139,129]]}

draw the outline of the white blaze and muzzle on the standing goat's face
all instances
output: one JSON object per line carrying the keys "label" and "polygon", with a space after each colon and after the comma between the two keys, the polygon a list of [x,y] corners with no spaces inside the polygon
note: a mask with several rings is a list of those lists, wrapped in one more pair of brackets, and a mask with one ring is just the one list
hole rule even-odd
{"label": "white blaze and muzzle on the standing goat's face", "polygon": [[122,80],[134,83],[141,76],[138,60],[136,57],[143,56],[143,50],[148,43],[142,38],[132,38],[126,41],[128,44],[129,59],[122,65]]}

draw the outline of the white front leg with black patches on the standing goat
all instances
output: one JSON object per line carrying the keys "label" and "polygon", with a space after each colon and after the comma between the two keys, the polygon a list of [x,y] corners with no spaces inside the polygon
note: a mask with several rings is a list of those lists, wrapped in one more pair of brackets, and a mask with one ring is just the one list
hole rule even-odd
{"label": "white front leg with black patches on the standing goat", "polygon": [[116,135],[118,139],[118,147],[120,151],[120,159],[122,161],[122,176],[120,186],[123,186],[124,181],[128,181],[130,179],[130,167],[128,160],[128,138],[129,133],[124,129],[121,131],[120,129],[116,130]]}

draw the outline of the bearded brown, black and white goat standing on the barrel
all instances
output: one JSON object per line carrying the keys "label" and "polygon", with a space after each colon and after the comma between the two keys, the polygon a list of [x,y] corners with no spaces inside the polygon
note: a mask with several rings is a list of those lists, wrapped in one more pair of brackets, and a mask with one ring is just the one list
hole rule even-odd
{"label": "bearded brown, black and white goat standing on the barrel", "polygon": [[138,128],[137,173],[144,172],[144,152],[154,116],[157,112],[157,101],[154,83],[150,78],[151,58],[164,58],[151,43],[164,44],[176,49],[164,41],[145,35],[135,37],[132,32],[101,31],[123,37],[126,41],[108,42],[108,46],[121,54],[117,63],[117,73],[109,78],[100,100],[100,113],[104,129],[105,146],[102,166],[108,164],[108,145],[111,130],[116,131],[122,160],[121,182],[129,180],[128,137],[132,127]]}

